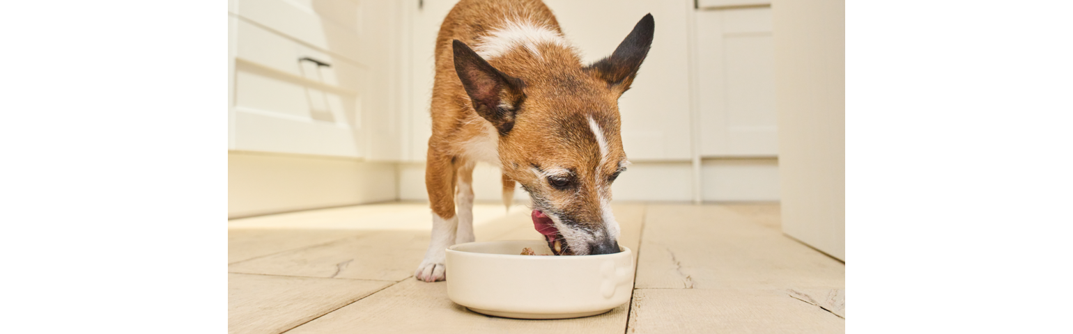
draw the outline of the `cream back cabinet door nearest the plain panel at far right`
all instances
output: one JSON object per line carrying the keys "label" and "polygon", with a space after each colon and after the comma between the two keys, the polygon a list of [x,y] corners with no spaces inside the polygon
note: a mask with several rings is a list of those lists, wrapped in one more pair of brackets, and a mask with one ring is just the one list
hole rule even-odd
{"label": "cream back cabinet door nearest the plain panel at far right", "polygon": [[771,9],[697,10],[703,156],[776,156]]}

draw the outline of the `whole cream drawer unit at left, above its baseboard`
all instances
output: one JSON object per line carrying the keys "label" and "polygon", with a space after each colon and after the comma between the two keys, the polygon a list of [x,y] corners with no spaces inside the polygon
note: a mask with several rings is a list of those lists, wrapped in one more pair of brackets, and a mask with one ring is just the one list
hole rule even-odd
{"label": "whole cream drawer unit at left, above its baseboard", "polygon": [[384,0],[229,2],[229,150],[398,158],[395,9]]}

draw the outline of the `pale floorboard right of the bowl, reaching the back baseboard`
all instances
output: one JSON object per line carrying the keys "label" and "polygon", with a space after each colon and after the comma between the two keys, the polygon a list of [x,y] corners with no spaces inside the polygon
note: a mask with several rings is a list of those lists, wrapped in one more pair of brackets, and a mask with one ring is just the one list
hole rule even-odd
{"label": "pale floorboard right of the bowl, reaching the back baseboard", "polygon": [[636,288],[844,289],[846,264],[723,206],[648,207]]}

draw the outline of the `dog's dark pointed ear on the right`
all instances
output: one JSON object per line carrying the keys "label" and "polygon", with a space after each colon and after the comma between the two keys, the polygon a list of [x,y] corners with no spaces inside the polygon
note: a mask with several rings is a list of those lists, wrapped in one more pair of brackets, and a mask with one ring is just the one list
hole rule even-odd
{"label": "dog's dark pointed ear on the right", "polygon": [[655,30],[656,21],[652,20],[652,14],[645,15],[611,57],[585,67],[585,72],[607,81],[608,87],[618,89],[620,93],[626,92],[630,89],[630,84],[633,84],[633,78],[637,76],[641,63],[648,56]]}

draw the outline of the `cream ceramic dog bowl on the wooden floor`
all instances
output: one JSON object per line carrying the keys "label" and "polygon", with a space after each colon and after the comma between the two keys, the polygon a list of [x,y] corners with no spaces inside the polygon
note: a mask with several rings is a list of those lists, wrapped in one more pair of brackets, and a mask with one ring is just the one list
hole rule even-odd
{"label": "cream ceramic dog bowl on the wooden floor", "polygon": [[447,295],[475,313],[521,319],[594,316],[630,302],[633,252],[552,254],[539,240],[470,242],[447,247]]}

